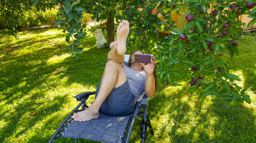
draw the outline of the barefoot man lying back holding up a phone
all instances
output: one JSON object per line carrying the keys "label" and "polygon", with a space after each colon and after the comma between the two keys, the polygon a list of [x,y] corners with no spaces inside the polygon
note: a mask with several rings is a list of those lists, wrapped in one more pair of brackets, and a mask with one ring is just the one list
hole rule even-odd
{"label": "barefoot man lying back holding up a phone", "polygon": [[122,21],[117,29],[117,41],[110,43],[111,51],[103,76],[98,84],[95,101],[86,110],[72,116],[74,121],[86,122],[97,119],[99,111],[110,116],[124,116],[134,110],[134,99],[145,91],[147,97],[155,94],[155,58],[149,64],[134,63],[134,54],[144,54],[134,51],[129,57],[130,67],[125,66],[129,22]]}

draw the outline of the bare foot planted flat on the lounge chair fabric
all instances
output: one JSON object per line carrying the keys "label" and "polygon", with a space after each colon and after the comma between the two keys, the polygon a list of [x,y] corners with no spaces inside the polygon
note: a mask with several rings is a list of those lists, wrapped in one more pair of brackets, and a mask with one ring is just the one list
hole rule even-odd
{"label": "bare foot planted flat on the lounge chair fabric", "polygon": [[86,122],[92,119],[98,119],[99,117],[99,112],[92,110],[90,107],[87,108],[86,110],[77,112],[72,116],[74,121],[77,122]]}

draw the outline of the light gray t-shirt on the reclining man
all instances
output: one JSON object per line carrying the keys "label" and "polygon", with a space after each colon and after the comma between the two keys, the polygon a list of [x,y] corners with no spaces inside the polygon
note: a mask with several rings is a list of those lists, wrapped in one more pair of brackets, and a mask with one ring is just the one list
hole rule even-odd
{"label": "light gray t-shirt on the reclining man", "polygon": [[127,76],[132,95],[135,98],[145,91],[146,72],[144,70],[138,72],[127,66],[124,66],[123,69]]}

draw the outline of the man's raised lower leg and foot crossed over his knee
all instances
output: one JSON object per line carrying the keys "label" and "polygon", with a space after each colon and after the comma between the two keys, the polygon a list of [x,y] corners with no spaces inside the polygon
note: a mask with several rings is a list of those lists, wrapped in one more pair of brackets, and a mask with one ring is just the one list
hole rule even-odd
{"label": "man's raised lower leg and foot crossed over his knee", "polygon": [[119,24],[115,42],[110,43],[110,48],[112,49],[107,58],[109,60],[117,61],[118,63],[123,63],[124,54],[126,52],[127,36],[129,34],[129,22],[127,20],[122,21]]}

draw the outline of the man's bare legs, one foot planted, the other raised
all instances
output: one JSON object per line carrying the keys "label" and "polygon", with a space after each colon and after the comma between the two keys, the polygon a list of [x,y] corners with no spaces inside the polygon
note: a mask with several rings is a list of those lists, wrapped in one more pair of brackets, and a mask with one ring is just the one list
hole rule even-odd
{"label": "man's bare legs, one foot planted, the other raised", "polygon": [[[127,22],[123,21],[123,24],[119,25],[118,27],[119,32],[122,31],[122,28],[126,30],[123,30],[122,35],[119,34],[118,36],[119,40],[117,39],[117,42],[114,42],[112,44],[112,48],[115,49],[116,51],[119,51],[120,54],[122,55],[119,55],[119,54],[118,55],[122,57],[124,57],[124,54],[126,52],[126,39],[129,33],[129,23],[128,23],[128,30],[127,30],[127,23],[128,21]],[[124,36],[125,38],[123,38],[122,36]],[[125,42],[123,42],[124,39],[125,39]],[[74,121],[86,122],[92,119],[97,119],[101,104],[103,104],[104,100],[106,100],[107,96],[109,96],[110,92],[114,88],[118,88],[119,86],[123,85],[126,80],[127,80],[127,77],[125,75],[124,70],[122,69],[121,63],[112,59],[107,61],[103,76],[101,78],[101,86],[100,86],[97,98],[89,108],[87,108],[86,110],[80,111],[77,114],[74,114],[72,116]]]}

